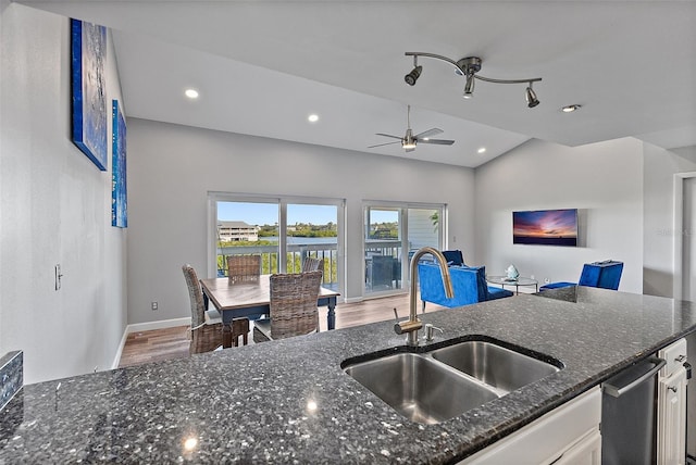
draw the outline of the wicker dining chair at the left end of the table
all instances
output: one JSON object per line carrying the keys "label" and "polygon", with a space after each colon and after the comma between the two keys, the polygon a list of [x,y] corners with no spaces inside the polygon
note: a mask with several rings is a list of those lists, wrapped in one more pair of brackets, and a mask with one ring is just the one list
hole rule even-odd
{"label": "wicker dining chair at the left end of the table", "polygon": [[206,310],[203,291],[196,269],[189,264],[182,266],[188,297],[191,302],[191,342],[188,352],[210,352],[222,347],[222,317],[216,310]]}

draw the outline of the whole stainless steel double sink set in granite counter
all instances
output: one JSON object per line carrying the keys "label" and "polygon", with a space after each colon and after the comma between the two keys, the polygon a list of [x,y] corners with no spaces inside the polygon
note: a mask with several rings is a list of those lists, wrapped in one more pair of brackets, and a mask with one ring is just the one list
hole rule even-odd
{"label": "whole stainless steel double sink set in granite counter", "polygon": [[347,360],[341,367],[406,418],[436,424],[562,367],[543,354],[521,351],[502,342],[467,340],[426,352]]}

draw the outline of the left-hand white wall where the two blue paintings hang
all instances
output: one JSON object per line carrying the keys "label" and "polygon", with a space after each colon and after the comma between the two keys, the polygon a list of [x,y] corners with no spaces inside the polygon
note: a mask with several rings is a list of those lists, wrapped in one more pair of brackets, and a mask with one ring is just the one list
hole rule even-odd
{"label": "left-hand white wall where the two blue paintings hang", "polygon": [[[110,226],[111,171],[71,142],[69,20],[1,8],[0,354],[24,350],[30,384],[111,368],[126,324],[126,231]],[[114,56],[110,47],[109,102],[121,99]]]}

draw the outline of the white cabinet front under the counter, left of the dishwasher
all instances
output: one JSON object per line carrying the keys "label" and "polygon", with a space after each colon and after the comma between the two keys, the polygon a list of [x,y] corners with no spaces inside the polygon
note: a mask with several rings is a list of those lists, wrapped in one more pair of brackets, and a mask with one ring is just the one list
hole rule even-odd
{"label": "white cabinet front under the counter, left of the dishwasher", "polygon": [[601,391],[595,387],[460,463],[599,465],[600,420]]}

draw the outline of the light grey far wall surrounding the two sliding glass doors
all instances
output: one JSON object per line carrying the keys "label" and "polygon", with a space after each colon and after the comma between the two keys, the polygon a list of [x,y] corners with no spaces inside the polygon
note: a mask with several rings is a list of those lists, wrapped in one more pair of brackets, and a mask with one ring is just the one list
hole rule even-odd
{"label": "light grey far wall surrounding the two sliding glass doors", "polygon": [[128,189],[129,324],[190,316],[182,264],[207,269],[209,191],[346,199],[348,298],[362,293],[363,200],[447,203],[450,246],[473,250],[469,168],[129,118]]}

